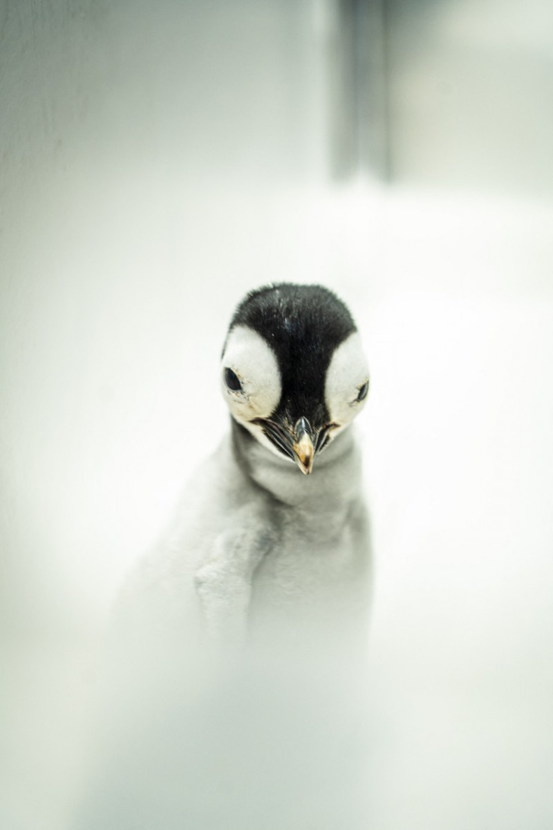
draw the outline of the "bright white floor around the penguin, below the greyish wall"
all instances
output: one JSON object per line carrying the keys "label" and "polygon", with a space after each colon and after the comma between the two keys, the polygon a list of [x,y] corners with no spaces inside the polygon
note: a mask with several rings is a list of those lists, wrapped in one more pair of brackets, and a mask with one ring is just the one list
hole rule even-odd
{"label": "bright white floor around the penguin, below the greyish wall", "polygon": [[371,828],[551,828],[551,205],[81,185],[37,197],[2,310],[2,828],[68,826],[106,609],[226,429],[233,305],[280,279],[341,293],[371,360]]}

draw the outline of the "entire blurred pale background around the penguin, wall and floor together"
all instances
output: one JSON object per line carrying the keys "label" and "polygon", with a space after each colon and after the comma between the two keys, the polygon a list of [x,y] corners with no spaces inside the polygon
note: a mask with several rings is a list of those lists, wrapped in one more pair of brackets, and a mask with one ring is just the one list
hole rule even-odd
{"label": "entire blurred pale background around the penguin, wall and floor together", "polygon": [[549,0],[0,0],[4,830],[70,823],[109,605],[274,280],[371,363],[371,827],[551,828],[551,148]]}

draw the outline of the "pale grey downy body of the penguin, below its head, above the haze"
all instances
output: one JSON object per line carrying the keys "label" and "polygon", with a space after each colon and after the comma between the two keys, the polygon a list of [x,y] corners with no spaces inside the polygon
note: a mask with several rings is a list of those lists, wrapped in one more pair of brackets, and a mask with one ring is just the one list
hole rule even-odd
{"label": "pale grey downy body of the penguin, below its head, above the haze", "polygon": [[232,423],[120,603],[129,635],[179,652],[264,642],[338,649],[366,635],[371,552],[352,427],[311,476]]}

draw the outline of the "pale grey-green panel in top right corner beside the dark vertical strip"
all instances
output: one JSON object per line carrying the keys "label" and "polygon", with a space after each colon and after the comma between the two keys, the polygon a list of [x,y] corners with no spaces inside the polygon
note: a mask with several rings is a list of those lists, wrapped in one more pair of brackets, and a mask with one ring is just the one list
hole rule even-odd
{"label": "pale grey-green panel in top right corner beside the dark vertical strip", "polygon": [[551,198],[551,2],[389,0],[386,15],[392,178]]}

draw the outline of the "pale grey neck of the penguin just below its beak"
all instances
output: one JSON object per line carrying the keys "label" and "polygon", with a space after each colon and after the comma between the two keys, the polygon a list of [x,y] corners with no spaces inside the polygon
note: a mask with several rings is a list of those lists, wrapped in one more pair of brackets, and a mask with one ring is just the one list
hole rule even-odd
{"label": "pale grey neck of the penguin just below its beak", "polygon": [[230,422],[234,457],[241,471],[282,504],[326,513],[359,497],[361,453],[351,426],[315,458],[312,473],[305,476],[293,461],[270,452],[234,418]]}

